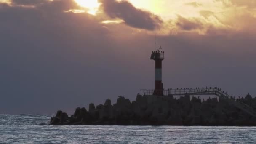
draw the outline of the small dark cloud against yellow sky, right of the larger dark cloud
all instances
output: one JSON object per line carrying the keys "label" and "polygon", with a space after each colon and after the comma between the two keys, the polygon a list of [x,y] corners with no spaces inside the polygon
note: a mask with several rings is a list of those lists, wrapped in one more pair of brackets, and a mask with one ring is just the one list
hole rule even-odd
{"label": "small dark cloud against yellow sky, right of the larger dark cloud", "polygon": [[182,30],[193,30],[193,29],[201,29],[203,24],[197,19],[186,19],[182,16],[178,15],[178,19],[176,21],[176,25],[180,27]]}

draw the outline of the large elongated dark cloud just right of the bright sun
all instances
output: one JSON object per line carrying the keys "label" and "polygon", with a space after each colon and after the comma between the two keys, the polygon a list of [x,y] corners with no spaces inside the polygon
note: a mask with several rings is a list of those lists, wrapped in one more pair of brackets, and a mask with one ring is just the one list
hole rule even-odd
{"label": "large elongated dark cloud just right of the bright sun", "polygon": [[160,27],[163,21],[159,16],[135,8],[128,1],[100,0],[104,12],[111,18],[123,19],[131,27],[154,30]]}

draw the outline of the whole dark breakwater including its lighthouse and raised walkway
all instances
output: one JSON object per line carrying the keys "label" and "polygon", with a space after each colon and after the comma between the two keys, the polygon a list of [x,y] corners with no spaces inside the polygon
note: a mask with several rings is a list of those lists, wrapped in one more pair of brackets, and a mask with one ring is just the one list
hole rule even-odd
{"label": "whole dark breakwater including its lighthouse and raised walkway", "polygon": [[[90,104],[88,111],[84,107],[77,108],[71,116],[58,111],[49,125],[256,126],[256,98],[249,93],[245,98],[235,99],[217,87],[165,90],[162,83],[164,52],[161,47],[152,51],[150,59],[155,60],[154,90],[142,90],[144,95],[138,94],[136,101],[132,102],[120,96],[113,105],[107,99],[104,105],[95,107]],[[209,98],[201,101],[199,96]]]}

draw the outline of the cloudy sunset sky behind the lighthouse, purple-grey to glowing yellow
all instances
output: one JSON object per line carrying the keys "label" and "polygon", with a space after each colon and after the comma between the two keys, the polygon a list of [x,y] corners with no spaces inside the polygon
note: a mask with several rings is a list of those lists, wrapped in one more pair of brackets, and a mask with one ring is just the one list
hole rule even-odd
{"label": "cloudy sunset sky behind the lighthouse, purple-grey to glowing yellow", "polygon": [[69,114],[163,85],[256,96],[255,0],[0,0],[0,113]]}

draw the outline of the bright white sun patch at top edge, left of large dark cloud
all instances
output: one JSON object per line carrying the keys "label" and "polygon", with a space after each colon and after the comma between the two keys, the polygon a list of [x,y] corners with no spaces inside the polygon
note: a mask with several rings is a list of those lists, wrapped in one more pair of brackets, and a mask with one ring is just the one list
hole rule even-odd
{"label": "bright white sun patch at top edge, left of large dark cloud", "polygon": [[88,13],[92,15],[96,15],[96,12],[98,11],[100,3],[98,3],[98,0],[75,0],[80,6],[88,8]]}

